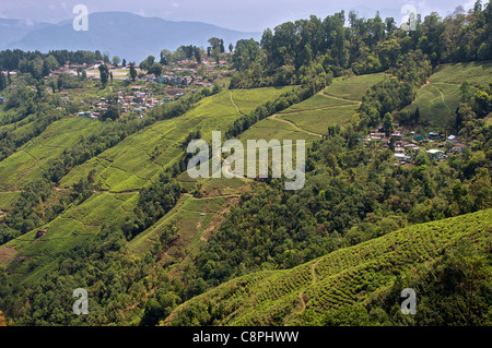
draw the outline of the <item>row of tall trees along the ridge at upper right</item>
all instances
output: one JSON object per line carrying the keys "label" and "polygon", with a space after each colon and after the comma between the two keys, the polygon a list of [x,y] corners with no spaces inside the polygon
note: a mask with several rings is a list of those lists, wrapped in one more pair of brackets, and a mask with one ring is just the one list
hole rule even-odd
{"label": "row of tall trees along the ridge at upper right", "polygon": [[393,17],[383,21],[379,14],[364,19],[355,11],[348,16],[341,11],[324,20],[312,15],[266,29],[259,43],[239,40],[231,88],[297,84],[302,67],[312,64],[321,64],[335,76],[383,72],[401,65],[412,51],[426,56],[433,67],[490,60],[491,33],[492,7],[483,7],[480,0],[469,13],[458,7],[444,19],[436,12],[423,20],[418,16],[411,32],[399,29]]}

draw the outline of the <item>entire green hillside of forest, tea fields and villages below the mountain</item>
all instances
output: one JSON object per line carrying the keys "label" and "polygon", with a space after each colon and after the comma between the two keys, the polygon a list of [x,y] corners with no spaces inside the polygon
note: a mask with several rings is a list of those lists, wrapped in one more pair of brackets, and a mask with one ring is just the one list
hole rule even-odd
{"label": "entire green hillside of forest, tea fields and villages below the mountain", "polygon": [[[209,55],[163,51],[127,80],[105,63],[97,79],[54,74],[101,52],[0,52],[4,321],[490,325],[491,25],[480,1],[411,32],[342,11],[231,52],[219,38]],[[177,88],[151,81],[155,67],[196,75]],[[124,111],[143,91],[163,101]],[[213,131],[304,140],[305,185],[191,179],[187,145]],[[72,312],[78,288],[89,315]]]}

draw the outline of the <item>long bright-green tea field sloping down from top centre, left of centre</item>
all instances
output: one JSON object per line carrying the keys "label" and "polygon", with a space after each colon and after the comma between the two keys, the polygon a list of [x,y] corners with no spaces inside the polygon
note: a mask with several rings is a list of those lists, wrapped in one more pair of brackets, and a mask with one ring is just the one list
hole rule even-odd
{"label": "long bright-green tea field sloping down from top centre, left of centre", "polygon": [[[249,94],[248,105],[255,104],[257,107],[274,99],[280,92],[281,89],[277,88],[260,88],[242,91],[241,95],[247,98]],[[236,92],[233,92],[234,94]],[[248,108],[253,106],[246,107]],[[244,111],[239,111],[233,103],[231,92],[221,92],[199,101],[184,116],[156,122],[74,168],[63,178],[61,185],[72,185],[90,170],[95,170],[96,184],[101,184],[102,190],[110,192],[139,190],[183,155],[183,142],[190,131],[200,130],[202,139],[211,140],[212,131],[225,132],[243,116],[242,112]]]}

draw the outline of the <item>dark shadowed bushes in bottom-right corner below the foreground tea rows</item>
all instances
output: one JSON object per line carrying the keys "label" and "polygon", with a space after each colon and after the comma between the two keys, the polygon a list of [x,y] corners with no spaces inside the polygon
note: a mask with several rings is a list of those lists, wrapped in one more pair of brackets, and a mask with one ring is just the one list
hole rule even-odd
{"label": "dark shadowed bushes in bottom-right corner below the foreground tea rows", "polygon": [[[372,314],[370,325],[489,326],[492,323],[491,265],[490,253],[480,254],[464,241],[431,267],[421,269],[418,276],[398,276],[388,291],[370,301],[361,312]],[[406,287],[418,295],[415,315],[401,315],[400,292]],[[336,316],[349,320],[347,314],[337,312]],[[326,324],[331,322],[327,316]]]}

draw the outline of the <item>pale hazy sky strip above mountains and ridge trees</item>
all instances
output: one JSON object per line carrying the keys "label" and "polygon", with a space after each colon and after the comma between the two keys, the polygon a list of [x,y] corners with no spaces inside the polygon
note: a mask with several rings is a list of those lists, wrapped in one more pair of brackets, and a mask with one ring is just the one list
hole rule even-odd
{"label": "pale hazy sky strip above mountains and ridge trees", "polygon": [[[56,23],[73,19],[75,4],[85,4],[89,12],[125,11],[169,21],[197,21],[249,32],[311,14],[325,17],[340,10],[355,10],[361,16],[372,17],[379,10],[383,17],[394,16],[398,23],[405,4],[415,7],[418,13],[436,11],[442,15],[457,5],[466,10],[476,0],[0,0],[0,17]],[[487,3],[488,0],[483,0]]]}

